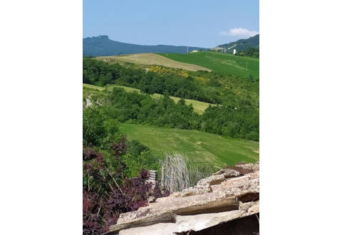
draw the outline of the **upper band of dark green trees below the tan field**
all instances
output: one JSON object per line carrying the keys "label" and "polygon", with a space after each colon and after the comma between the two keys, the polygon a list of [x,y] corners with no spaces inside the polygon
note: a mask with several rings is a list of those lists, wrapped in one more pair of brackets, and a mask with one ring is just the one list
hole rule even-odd
{"label": "upper band of dark green trees below the tan field", "polygon": [[191,76],[177,73],[146,72],[143,69],[125,68],[93,58],[83,58],[83,83],[106,85],[116,83],[138,88],[145,93],[167,93],[180,98],[220,103],[217,93],[202,89]]}

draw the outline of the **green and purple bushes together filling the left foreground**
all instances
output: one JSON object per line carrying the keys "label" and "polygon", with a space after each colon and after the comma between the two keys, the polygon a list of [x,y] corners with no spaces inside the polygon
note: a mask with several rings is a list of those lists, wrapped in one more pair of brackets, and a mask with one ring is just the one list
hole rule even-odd
{"label": "green and purple bushes together filling the left foreground", "polygon": [[[160,174],[162,155],[137,140],[127,140],[100,105],[83,110],[83,234],[101,234],[120,213],[134,211],[147,200],[165,197],[167,189],[147,183],[145,169]],[[205,168],[205,169],[204,169]],[[192,171],[192,184],[213,168]],[[208,172],[209,170],[209,172]],[[207,172],[204,172],[207,171]]]}

